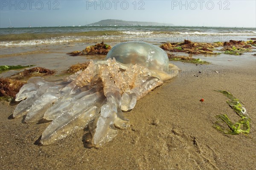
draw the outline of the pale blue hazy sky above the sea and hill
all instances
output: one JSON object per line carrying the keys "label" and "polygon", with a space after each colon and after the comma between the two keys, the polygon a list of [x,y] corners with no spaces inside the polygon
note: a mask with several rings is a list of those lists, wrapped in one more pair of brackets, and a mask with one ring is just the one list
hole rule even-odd
{"label": "pale blue hazy sky above the sea and hill", "polygon": [[83,26],[105,19],[256,27],[256,1],[0,0],[0,27],[10,26],[9,19],[14,27]]}

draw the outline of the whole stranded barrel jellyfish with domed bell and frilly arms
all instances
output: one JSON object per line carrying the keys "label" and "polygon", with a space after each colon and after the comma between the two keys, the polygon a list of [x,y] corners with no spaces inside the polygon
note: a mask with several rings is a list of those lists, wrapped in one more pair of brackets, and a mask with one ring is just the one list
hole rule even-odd
{"label": "whole stranded barrel jellyfish with domed bell and frilly arms", "polygon": [[169,63],[163,49],[145,42],[119,43],[106,60],[90,61],[86,69],[64,80],[30,78],[16,95],[21,102],[13,117],[26,116],[26,123],[51,121],[41,135],[43,145],[89,126],[93,146],[100,147],[118,129],[129,127],[123,112],[177,74],[178,68]]}

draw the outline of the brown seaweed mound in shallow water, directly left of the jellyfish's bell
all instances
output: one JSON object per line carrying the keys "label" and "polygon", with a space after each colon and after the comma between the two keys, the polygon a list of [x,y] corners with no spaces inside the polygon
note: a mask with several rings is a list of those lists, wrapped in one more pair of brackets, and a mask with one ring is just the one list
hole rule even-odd
{"label": "brown seaweed mound in shallow water, directly left of the jellyfish's bell", "polygon": [[87,46],[83,51],[75,51],[75,52],[70,52],[67,53],[68,55],[71,56],[77,56],[77,55],[106,55],[108,54],[109,50],[112,47],[108,44],[105,44],[104,42],[102,43],[97,43],[93,46]]}

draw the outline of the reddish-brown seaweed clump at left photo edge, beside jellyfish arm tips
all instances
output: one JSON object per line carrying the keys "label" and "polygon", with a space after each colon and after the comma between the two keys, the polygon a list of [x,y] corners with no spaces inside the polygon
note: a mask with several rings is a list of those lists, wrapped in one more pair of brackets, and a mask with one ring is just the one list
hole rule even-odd
{"label": "reddish-brown seaweed clump at left photo edge, beside jellyfish arm tips", "polygon": [[13,80],[11,78],[0,78],[0,97],[10,96],[15,98],[20,87],[26,84],[25,81]]}

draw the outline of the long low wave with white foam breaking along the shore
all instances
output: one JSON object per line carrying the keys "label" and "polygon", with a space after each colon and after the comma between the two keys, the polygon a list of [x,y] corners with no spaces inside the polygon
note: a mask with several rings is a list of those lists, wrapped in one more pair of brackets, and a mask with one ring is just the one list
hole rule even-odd
{"label": "long low wave with white foam breaking along the shore", "polygon": [[[118,34],[115,34],[118,32]],[[175,37],[182,37],[183,39],[189,39],[189,36],[197,37],[197,39],[200,39],[200,37],[216,37],[218,41],[221,40],[227,40],[227,37],[239,37],[239,36],[246,36],[246,37],[252,37],[256,36],[256,32],[250,31],[250,32],[166,32],[166,31],[157,31],[157,32],[149,32],[149,31],[116,31],[116,32],[109,32],[110,34],[104,34],[102,35],[102,32],[100,32],[99,35],[76,35],[76,36],[70,36],[70,35],[61,35],[61,36],[52,36],[51,38],[48,38],[50,36],[45,35],[44,37],[41,36],[41,39],[35,39],[31,40],[31,38],[27,38],[26,36],[20,35],[20,37],[23,37],[22,40],[20,40],[19,36],[17,36],[15,39],[11,40],[1,40],[0,46],[9,47],[9,46],[35,46],[35,45],[44,45],[44,44],[63,44],[63,43],[71,43],[71,42],[84,42],[84,43],[94,43],[94,42],[106,42],[106,43],[113,43],[117,41],[127,41],[127,40],[134,40],[134,38],[139,38],[140,40],[144,40],[144,38],[172,38]],[[95,32],[93,32],[95,33]],[[25,37],[25,39],[24,39]],[[31,36],[28,36],[31,37]],[[38,36],[39,37],[39,36]],[[223,38],[220,38],[223,37]],[[175,39],[174,38],[174,39]]]}

